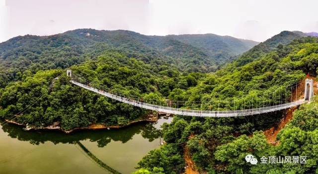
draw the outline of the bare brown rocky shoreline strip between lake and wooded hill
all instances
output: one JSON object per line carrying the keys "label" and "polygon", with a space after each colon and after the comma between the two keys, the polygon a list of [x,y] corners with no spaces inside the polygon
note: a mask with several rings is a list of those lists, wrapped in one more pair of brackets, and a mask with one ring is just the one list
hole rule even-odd
{"label": "bare brown rocky shoreline strip between lake and wooded hill", "polygon": [[60,127],[59,122],[55,122],[53,125],[50,125],[47,127],[31,127],[31,126],[28,126],[28,125],[25,125],[22,123],[15,122],[13,120],[5,119],[5,121],[8,123],[11,123],[11,124],[18,125],[18,126],[24,126],[23,129],[26,131],[30,131],[30,130],[60,130],[66,134],[69,134],[69,133],[77,131],[77,130],[120,129],[120,128],[128,127],[128,126],[131,126],[133,124],[140,123],[140,122],[156,122],[156,121],[158,121],[158,119],[159,119],[159,116],[157,114],[149,114],[146,119],[134,120],[134,121],[129,122],[126,125],[107,126],[106,124],[103,124],[103,123],[93,123],[93,124],[89,125],[88,127],[78,127],[78,128],[74,128],[71,130],[64,130],[63,128]]}

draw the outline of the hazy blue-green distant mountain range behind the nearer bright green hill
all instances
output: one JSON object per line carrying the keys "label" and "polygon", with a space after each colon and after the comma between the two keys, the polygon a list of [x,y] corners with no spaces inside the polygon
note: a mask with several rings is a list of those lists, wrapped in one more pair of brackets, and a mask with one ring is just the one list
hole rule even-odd
{"label": "hazy blue-green distant mountain range behind the nearer bright green hill", "polygon": [[[194,42],[182,42],[171,36],[146,36],[126,30],[77,29],[52,36],[26,35],[12,38],[0,43],[0,58],[8,67],[18,68],[14,65],[23,63],[25,66],[37,64],[46,69],[54,69],[72,66],[87,57],[96,58],[108,49],[117,49],[127,52],[129,57],[139,58],[139,54],[144,54],[147,58],[141,59],[148,63],[156,59],[178,65],[182,71],[211,72],[220,63],[257,44],[229,36],[210,35],[196,37],[200,36],[201,40],[209,37],[209,42],[216,44],[192,45]],[[188,37],[190,41],[195,39],[191,35]]]}

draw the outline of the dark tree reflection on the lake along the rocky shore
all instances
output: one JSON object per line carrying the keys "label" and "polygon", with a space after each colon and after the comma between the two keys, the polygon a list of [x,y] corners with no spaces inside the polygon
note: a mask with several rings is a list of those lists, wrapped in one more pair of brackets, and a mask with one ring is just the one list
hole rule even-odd
{"label": "dark tree reflection on the lake along the rocky shore", "polygon": [[135,134],[141,134],[143,138],[152,142],[159,138],[161,132],[155,125],[156,123],[136,123],[121,129],[80,130],[70,134],[55,130],[24,131],[20,126],[12,124],[4,124],[2,130],[8,133],[11,138],[28,141],[33,145],[43,144],[47,141],[54,144],[75,144],[78,141],[89,140],[90,142],[97,142],[98,147],[105,147],[111,140],[126,143]]}

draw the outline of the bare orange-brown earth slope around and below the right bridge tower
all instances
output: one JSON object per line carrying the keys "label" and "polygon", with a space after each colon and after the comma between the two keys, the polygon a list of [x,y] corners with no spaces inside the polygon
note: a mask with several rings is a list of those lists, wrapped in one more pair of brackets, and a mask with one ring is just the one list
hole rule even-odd
{"label": "bare orange-brown earth slope around and below the right bridge tower", "polygon": [[[305,79],[312,79],[314,80],[314,93],[318,93],[318,87],[317,87],[317,81],[315,77],[306,77]],[[295,96],[294,100],[302,99],[305,97],[304,94],[304,87],[305,87],[305,79],[300,83],[299,86],[297,86],[297,90],[293,90],[293,96]],[[277,145],[279,142],[276,141],[277,134],[285,127],[287,123],[289,123],[290,120],[293,119],[293,113],[294,111],[298,108],[298,106],[289,108],[286,110],[286,115],[284,118],[281,119],[280,123],[278,124],[277,127],[271,127],[267,130],[264,131],[264,135],[266,136],[267,143],[272,144],[272,145]]]}

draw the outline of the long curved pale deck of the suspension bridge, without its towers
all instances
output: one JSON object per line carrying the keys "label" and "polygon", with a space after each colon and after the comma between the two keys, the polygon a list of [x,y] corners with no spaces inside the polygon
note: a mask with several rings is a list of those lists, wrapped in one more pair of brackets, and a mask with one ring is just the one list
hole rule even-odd
{"label": "long curved pale deck of the suspension bridge, without its towers", "polygon": [[216,110],[191,110],[191,109],[181,109],[181,108],[173,108],[173,107],[167,107],[167,106],[159,106],[154,104],[149,104],[141,101],[136,101],[133,99],[125,98],[123,96],[118,96],[103,90],[99,90],[93,87],[89,87],[86,85],[83,85],[81,83],[78,83],[76,81],[71,80],[71,83],[74,85],[77,85],[79,87],[83,87],[85,89],[88,89],[90,91],[99,93],[101,95],[104,95],[106,97],[112,98],[114,100],[124,102],[130,105],[134,105],[137,107],[155,110],[159,112],[165,112],[165,113],[171,113],[171,114],[177,114],[177,115],[188,115],[188,116],[199,116],[199,117],[237,117],[237,116],[247,116],[247,115],[256,115],[261,113],[267,113],[267,112],[273,112],[277,110],[287,109],[293,106],[301,105],[305,103],[306,101],[304,99],[285,103],[285,104],[278,104],[274,106],[267,106],[267,107],[260,107],[260,108],[254,108],[254,109],[242,109],[242,110],[227,110],[227,111],[216,111]]}

